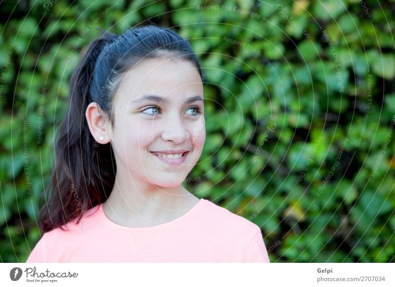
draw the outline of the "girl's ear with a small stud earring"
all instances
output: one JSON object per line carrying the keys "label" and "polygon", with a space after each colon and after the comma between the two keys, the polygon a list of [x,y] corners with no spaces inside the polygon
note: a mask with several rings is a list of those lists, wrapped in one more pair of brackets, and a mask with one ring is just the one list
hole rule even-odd
{"label": "girl's ear with a small stud earring", "polygon": [[90,103],[85,111],[90,133],[99,144],[110,142],[110,119],[95,102]]}

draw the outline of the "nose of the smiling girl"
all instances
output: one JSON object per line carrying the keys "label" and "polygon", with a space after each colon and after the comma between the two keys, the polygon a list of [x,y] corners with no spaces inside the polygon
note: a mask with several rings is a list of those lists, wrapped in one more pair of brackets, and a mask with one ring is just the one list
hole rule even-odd
{"label": "nose of the smiling girl", "polygon": [[172,112],[166,118],[161,137],[164,141],[173,141],[175,144],[181,144],[189,139],[188,128],[177,112]]}

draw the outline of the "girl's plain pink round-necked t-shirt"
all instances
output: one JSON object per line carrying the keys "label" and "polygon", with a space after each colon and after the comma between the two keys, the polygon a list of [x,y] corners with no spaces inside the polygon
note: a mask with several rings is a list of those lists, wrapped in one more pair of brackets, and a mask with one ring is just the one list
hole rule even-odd
{"label": "girl's plain pink round-necked t-shirt", "polygon": [[26,262],[270,262],[260,228],[211,201],[152,227],[109,220],[102,204],[44,233]]}

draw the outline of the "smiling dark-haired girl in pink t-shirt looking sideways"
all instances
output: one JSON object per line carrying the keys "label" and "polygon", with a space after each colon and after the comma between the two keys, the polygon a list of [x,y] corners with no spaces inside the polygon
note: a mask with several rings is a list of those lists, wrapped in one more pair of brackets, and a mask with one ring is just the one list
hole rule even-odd
{"label": "smiling dark-haired girl in pink t-shirt looking sideways", "polygon": [[269,262],[256,224],[181,185],[205,142],[202,81],[168,29],[89,45],[27,262]]}

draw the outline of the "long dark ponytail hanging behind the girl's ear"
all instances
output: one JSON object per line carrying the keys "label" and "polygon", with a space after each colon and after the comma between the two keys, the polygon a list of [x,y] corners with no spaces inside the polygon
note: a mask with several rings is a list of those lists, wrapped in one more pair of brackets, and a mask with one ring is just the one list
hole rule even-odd
{"label": "long dark ponytail hanging behind the girl's ear", "polygon": [[[116,165],[111,144],[93,139],[85,117],[92,97],[89,92],[96,61],[114,35],[102,31],[94,40],[70,80],[69,108],[55,144],[55,167],[39,225],[45,233],[82,218],[84,211],[104,202],[114,186]],[[99,164],[100,163],[100,164]]]}

